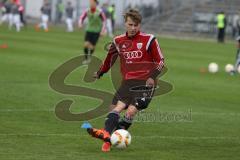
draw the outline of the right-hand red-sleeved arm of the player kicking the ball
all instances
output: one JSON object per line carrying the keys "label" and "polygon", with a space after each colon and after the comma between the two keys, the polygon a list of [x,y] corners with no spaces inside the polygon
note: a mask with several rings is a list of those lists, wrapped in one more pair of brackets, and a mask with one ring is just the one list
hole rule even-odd
{"label": "right-hand red-sleeved arm of the player kicking the ball", "polygon": [[164,57],[156,38],[152,40],[149,51],[153,56],[155,68],[152,70],[150,78],[156,79],[164,67]]}

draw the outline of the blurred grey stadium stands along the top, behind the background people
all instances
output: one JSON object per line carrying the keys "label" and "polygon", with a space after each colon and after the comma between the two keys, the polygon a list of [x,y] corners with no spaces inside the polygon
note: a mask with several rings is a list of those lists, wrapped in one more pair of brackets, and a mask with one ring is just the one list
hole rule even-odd
{"label": "blurred grey stadium stands along the top, behind the background people", "polygon": [[[66,4],[68,0],[63,0]],[[69,0],[76,9],[75,20],[80,16],[88,1]],[[21,0],[25,6],[26,17],[39,18],[40,6],[43,0]],[[56,17],[58,0],[50,0],[52,5],[52,19]],[[121,26],[122,12],[128,7],[138,8],[145,17],[144,27],[154,32],[185,32],[214,34],[216,29],[216,14],[225,11],[228,20],[227,33],[231,32],[232,17],[239,14],[240,1],[238,0],[131,0],[114,1],[101,0],[100,4],[108,2],[115,4],[116,22]]]}

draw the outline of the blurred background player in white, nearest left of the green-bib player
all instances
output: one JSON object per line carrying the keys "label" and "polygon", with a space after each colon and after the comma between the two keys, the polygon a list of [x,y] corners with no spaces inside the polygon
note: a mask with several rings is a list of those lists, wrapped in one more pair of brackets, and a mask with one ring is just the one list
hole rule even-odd
{"label": "blurred background player in white, nearest left of the green-bib player", "polygon": [[73,12],[74,8],[72,6],[72,3],[68,2],[67,7],[65,9],[67,32],[73,32]]}

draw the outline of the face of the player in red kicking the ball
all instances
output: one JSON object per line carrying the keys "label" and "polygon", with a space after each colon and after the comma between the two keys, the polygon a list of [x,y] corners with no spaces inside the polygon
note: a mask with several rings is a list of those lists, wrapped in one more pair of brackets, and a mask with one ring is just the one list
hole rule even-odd
{"label": "face of the player in red kicking the ball", "polygon": [[125,27],[129,37],[135,36],[136,33],[140,30],[140,24],[134,22],[130,17],[127,17]]}

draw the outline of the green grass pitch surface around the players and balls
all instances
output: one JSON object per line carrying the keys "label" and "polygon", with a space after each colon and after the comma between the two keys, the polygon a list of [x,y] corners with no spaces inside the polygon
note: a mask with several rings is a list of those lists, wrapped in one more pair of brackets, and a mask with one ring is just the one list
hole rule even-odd
{"label": "green grass pitch surface around the players and balls", "polygon": [[[73,99],[72,112],[84,112],[100,103],[83,96],[60,94],[49,87],[50,74],[69,59],[82,54],[83,32],[49,33],[31,27],[20,33],[0,27],[0,159],[1,160],[237,160],[240,157],[240,76],[224,72],[233,63],[235,44],[159,37],[168,72],[161,77],[174,85],[155,97],[145,113],[188,115],[188,119],[136,122],[129,130],[132,144],[125,150],[102,153],[101,142],[80,129],[82,122],[66,122],[55,115],[55,105]],[[101,38],[95,55],[103,59],[108,38]],[[200,73],[210,62],[216,74]],[[66,83],[113,93],[106,74],[88,84],[86,67],[72,72]],[[159,114],[156,114],[159,113]],[[150,117],[149,117],[150,118]],[[176,117],[175,117],[176,118]],[[90,121],[102,127],[104,116]]]}

